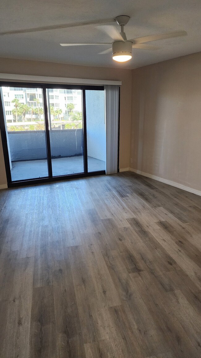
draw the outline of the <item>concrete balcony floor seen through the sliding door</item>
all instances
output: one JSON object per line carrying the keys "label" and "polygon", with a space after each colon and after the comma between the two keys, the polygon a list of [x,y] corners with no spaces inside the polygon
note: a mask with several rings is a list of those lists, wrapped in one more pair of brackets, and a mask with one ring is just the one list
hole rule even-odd
{"label": "concrete balcony floor seen through the sliding door", "polygon": [[[105,161],[88,156],[88,171],[105,170]],[[84,172],[83,156],[52,159],[52,174],[67,175]],[[26,160],[12,162],[12,180],[43,178],[48,176],[47,160]]]}

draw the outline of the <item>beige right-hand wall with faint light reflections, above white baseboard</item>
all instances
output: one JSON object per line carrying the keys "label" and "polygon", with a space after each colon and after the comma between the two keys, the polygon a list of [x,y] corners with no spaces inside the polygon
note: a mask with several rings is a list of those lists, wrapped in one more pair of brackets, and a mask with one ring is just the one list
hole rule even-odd
{"label": "beige right-hand wall with faint light reflections, above white baseboard", "polygon": [[201,190],[201,53],[132,70],[130,157]]}

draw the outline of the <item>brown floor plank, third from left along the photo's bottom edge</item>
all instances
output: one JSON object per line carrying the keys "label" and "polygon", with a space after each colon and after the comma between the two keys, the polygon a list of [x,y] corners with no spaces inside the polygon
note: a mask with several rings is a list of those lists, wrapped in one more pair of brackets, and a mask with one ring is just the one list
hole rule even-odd
{"label": "brown floor plank, third from left along the photo's bottom edge", "polygon": [[69,257],[53,266],[56,346],[58,357],[85,357]]}

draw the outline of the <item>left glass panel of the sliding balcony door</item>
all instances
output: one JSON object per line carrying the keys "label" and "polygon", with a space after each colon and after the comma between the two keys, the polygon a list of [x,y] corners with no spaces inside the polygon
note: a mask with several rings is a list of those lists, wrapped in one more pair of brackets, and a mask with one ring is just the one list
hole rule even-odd
{"label": "left glass panel of the sliding balcony door", "polygon": [[0,91],[12,181],[48,176],[42,89]]}

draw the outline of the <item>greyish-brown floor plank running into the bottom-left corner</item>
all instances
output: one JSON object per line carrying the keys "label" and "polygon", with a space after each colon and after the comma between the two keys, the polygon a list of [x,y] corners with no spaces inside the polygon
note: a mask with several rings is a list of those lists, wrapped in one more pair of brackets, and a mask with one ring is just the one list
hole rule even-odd
{"label": "greyish-brown floor plank running into the bottom-left corner", "polygon": [[[29,357],[34,258],[18,259],[7,311],[2,356]],[[15,327],[15,329],[14,329]]]}

